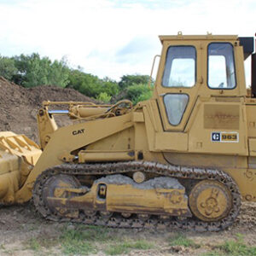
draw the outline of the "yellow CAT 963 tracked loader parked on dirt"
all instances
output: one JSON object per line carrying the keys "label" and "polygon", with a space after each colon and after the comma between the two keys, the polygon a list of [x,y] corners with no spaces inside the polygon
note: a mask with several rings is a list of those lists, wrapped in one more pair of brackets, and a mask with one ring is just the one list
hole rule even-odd
{"label": "yellow CAT 963 tracked loader parked on dirt", "polygon": [[[178,33],[160,42],[148,101],[44,102],[40,147],[0,133],[2,204],[32,199],[55,221],[223,230],[241,201],[256,201],[254,38]],[[57,115],[73,125],[58,128]]]}

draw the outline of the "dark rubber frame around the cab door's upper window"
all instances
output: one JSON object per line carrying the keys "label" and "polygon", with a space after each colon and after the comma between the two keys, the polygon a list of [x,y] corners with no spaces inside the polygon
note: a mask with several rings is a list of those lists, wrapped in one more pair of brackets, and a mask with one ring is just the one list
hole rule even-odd
{"label": "dark rubber frame around the cab door's upper window", "polygon": [[[175,48],[175,47],[191,47],[191,48],[195,49],[195,83],[192,86],[167,86],[167,85],[164,84],[164,77],[165,77],[165,73],[166,73],[166,63],[167,63],[167,58],[168,58],[168,51],[171,47],[172,48]],[[192,59],[192,60],[194,60],[194,59]],[[171,71],[172,71],[172,69],[170,70],[169,79],[171,77]],[[161,86],[164,87],[164,88],[169,88],[169,89],[172,89],[172,88],[190,89],[190,88],[194,88],[196,84],[197,84],[197,49],[196,49],[195,45],[190,45],[190,44],[169,45],[167,50],[166,50],[166,60],[165,60],[165,65],[164,65],[164,71],[162,73],[162,78],[161,78]]]}

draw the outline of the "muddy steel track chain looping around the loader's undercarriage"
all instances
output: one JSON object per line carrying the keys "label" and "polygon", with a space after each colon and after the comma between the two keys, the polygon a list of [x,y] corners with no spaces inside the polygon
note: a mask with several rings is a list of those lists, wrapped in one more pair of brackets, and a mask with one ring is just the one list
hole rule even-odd
{"label": "muddy steel track chain looping around the loader's undercarriage", "polygon": [[[79,213],[79,218],[66,218],[51,212],[49,207],[44,204],[42,192],[45,181],[56,174],[67,175],[112,175],[122,174],[126,172],[148,172],[159,176],[175,177],[177,179],[190,180],[215,180],[224,184],[232,196],[232,208],[229,215],[219,221],[204,222],[198,218],[175,218],[170,217],[162,219],[159,216],[151,216],[147,220],[137,218],[132,214],[130,218],[124,218],[120,213],[116,212],[110,218],[103,218],[100,214],[95,216],[86,216],[83,212]],[[103,225],[113,228],[157,228],[157,229],[182,229],[182,230],[198,230],[198,231],[218,231],[224,230],[234,223],[241,207],[241,195],[235,181],[225,172],[195,167],[183,167],[162,165],[154,162],[146,161],[130,161],[117,162],[108,164],[63,164],[61,166],[51,167],[42,172],[34,185],[33,202],[38,212],[44,218],[58,222],[73,222],[81,224]]]}

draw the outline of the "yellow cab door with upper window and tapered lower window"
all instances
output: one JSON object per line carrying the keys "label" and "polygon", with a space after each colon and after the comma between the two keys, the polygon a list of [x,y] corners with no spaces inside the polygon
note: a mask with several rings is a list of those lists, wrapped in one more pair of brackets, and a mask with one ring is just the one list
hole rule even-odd
{"label": "yellow cab door with upper window and tapered lower window", "polygon": [[200,59],[200,42],[164,41],[155,86],[164,131],[184,131],[202,83]]}

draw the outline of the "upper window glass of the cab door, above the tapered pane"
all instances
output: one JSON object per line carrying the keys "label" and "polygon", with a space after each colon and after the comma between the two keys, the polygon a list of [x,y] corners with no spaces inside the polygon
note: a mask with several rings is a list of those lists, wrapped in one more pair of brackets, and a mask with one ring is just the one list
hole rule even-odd
{"label": "upper window glass of the cab door, above the tapered pane", "polygon": [[166,87],[192,87],[195,85],[195,47],[170,46],[162,79]]}

